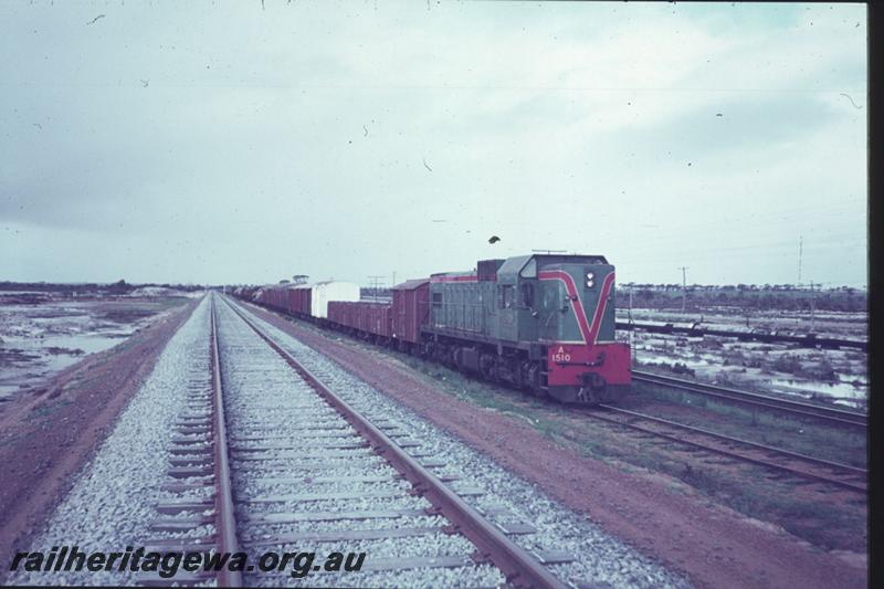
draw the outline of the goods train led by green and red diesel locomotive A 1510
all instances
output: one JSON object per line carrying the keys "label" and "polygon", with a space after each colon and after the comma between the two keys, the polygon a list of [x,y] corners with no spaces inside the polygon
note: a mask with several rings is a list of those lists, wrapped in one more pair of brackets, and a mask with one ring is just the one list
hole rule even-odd
{"label": "goods train led by green and red diesel locomotive A 1510", "polygon": [[629,345],[614,340],[614,266],[601,255],[482,260],[473,272],[398,284],[380,303],[344,282],[234,295],[567,403],[630,388]]}

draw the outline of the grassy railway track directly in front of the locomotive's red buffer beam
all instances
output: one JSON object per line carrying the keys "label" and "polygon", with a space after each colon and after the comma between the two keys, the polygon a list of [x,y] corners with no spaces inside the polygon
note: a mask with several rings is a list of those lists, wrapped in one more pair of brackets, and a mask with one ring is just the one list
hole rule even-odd
{"label": "grassy railway track directly in front of the locomotive's red buffer beam", "polygon": [[845,488],[856,493],[867,493],[867,471],[849,464],[827,461],[796,452],[789,452],[739,438],[685,425],[635,411],[601,404],[599,410],[585,410],[593,419],[613,423],[654,438],[688,445],[727,456],[739,462],[762,466],[776,473],[786,474],[813,483]]}

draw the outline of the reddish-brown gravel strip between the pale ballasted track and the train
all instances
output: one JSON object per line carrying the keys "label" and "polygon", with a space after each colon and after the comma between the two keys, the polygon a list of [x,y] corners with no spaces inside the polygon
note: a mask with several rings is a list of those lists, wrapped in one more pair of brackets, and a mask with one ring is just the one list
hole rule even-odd
{"label": "reddish-brown gravel strip between the pale ballasted track and the train", "polygon": [[698,586],[866,585],[862,561],[815,549],[781,528],[686,492],[673,478],[623,472],[582,456],[520,420],[440,391],[441,383],[390,357],[250,308]]}

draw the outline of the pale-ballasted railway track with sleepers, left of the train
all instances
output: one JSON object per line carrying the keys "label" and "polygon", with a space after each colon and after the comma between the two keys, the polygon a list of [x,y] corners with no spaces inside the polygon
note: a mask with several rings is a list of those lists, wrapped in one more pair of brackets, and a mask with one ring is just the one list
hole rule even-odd
{"label": "pale-ballasted railway track with sleepers, left of the train", "polygon": [[[255,562],[264,550],[312,549],[318,558],[318,546],[379,540],[389,554],[369,554],[358,574],[372,586],[425,585],[432,569],[444,585],[566,587],[454,493],[452,478],[434,474],[443,461],[420,442],[402,438],[394,422],[370,422],[240,309],[214,295],[211,305],[209,350],[175,424],[168,496],[156,505],[148,550],[244,551]],[[224,570],[215,580],[261,582],[255,575]],[[328,575],[308,582],[357,579]],[[196,585],[211,576],[139,582]]]}

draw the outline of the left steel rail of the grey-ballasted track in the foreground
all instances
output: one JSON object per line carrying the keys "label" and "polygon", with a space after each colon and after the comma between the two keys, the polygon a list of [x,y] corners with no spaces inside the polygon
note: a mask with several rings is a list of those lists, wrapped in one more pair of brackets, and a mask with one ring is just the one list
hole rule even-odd
{"label": "left steel rail of the grey-ballasted track in the foreground", "polygon": [[[213,429],[214,429],[214,484],[215,484],[215,514],[217,514],[217,543],[220,554],[234,554],[240,551],[240,541],[236,538],[236,517],[233,508],[233,493],[230,480],[230,462],[228,461],[228,434],[224,420],[223,383],[221,381],[221,355],[218,349],[218,326],[215,319],[214,296],[211,308],[211,348],[212,348],[212,397],[213,397]],[[228,570],[222,567],[218,571],[219,587],[243,587],[242,572]]]}

